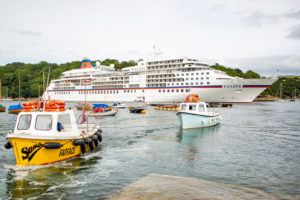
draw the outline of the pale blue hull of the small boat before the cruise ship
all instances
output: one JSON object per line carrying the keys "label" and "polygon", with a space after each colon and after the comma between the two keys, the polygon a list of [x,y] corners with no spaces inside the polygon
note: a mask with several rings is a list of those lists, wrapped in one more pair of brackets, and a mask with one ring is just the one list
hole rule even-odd
{"label": "pale blue hull of the small boat before the cruise ship", "polygon": [[220,118],[217,116],[210,117],[180,112],[178,113],[178,118],[180,121],[180,126],[183,129],[209,127],[220,123]]}

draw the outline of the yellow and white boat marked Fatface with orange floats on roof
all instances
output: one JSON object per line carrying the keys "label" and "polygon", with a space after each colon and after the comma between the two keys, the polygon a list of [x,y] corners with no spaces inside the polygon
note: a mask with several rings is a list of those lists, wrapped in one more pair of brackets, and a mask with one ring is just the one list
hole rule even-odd
{"label": "yellow and white boat marked Fatface with orange floats on roof", "polygon": [[76,123],[73,110],[62,101],[28,102],[19,113],[14,132],[6,135],[17,165],[46,165],[93,151],[102,141],[96,124]]}

